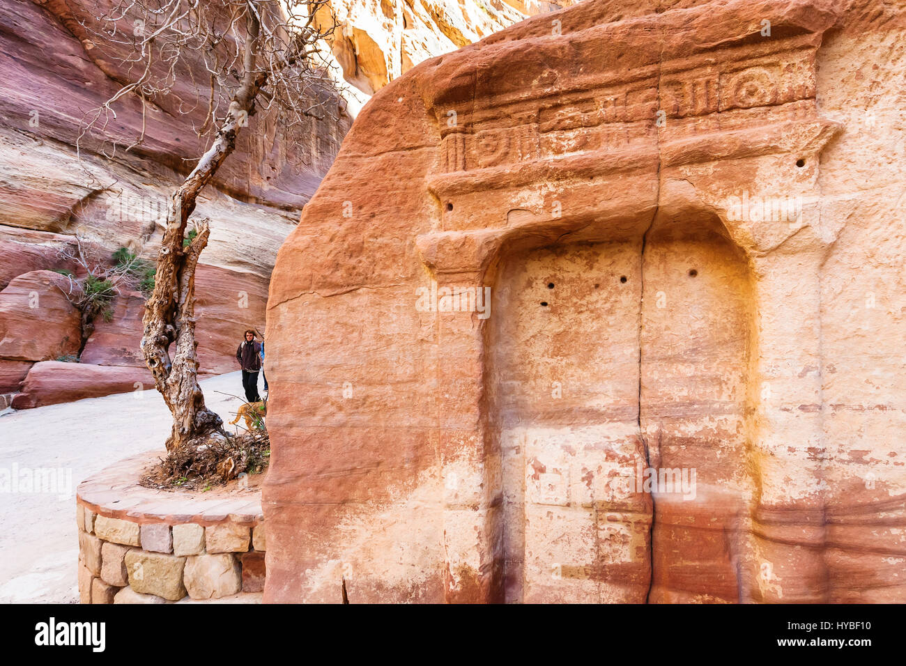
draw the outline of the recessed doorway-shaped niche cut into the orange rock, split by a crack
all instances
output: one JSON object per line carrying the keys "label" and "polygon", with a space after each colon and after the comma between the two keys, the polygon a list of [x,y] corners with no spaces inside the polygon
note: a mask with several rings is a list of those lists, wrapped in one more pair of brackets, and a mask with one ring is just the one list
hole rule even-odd
{"label": "recessed doorway-shaped niche cut into the orange rock, split by a crack", "polygon": [[737,600],[753,302],[745,256],[702,215],[501,258],[487,385],[506,601]]}

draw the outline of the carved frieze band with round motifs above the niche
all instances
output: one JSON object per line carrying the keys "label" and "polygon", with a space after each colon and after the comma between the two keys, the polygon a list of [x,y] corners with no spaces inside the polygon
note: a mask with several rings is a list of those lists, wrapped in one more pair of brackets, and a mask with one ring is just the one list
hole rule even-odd
{"label": "carved frieze band with round motifs above the niche", "polygon": [[743,58],[733,53],[719,69],[710,61],[664,63],[660,82],[650,78],[578,97],[562,94],[556,101],[548,96],[532,102],[529,111],[520,101],[490,104],[493,112],[463,112],[457,128],[444,128],[442,172],[617,150],[651,139],[658,111],[684,119],[813,99],[814,51],[803,47],[803,39],[772,43],[773,53],[760,46]]}

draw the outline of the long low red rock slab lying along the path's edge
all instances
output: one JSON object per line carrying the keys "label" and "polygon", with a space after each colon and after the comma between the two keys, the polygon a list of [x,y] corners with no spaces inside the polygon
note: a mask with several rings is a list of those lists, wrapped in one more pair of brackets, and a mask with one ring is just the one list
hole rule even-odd
{"label": "long low red rock slab lying along the path's edge", "polygon": [[154,391],[154,379],[144,368],[44,361],[32,366],[22,392],[13,399],[13,407],[27,410],[139,390]]}

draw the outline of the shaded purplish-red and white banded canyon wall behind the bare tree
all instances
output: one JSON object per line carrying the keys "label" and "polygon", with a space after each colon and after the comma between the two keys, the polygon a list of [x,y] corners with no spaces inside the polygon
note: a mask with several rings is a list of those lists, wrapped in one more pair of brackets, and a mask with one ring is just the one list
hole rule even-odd
{"label": "shaded purplish-red and white banded canyon wall behind the bare tree", "polygon": [[[86,140],[81,160],[77,157],[73,142],[84,114],[109,99],[130,76],[125,65],[101,56],[118,46],[92,48],[80,41],[79,22],[96,14],[92,7],[82,0],[0,6],[0,115],[5,119],[0,128],[0,288],[34,270],[72,269],[59,250],[77,232],[111,253],[129,246],[152,260],[162,232],[162,210],[185,175],[182,159],[197,159],[207,145],[193,130],[204,123],[207,112],[205,104],[195,103],[199,72],[207,81],[197,61],[190,63],[196,76],[180,75],[173,92],[147,113],[138,101],[119,104],[116,120],[105,129],[116,138],[134,138],[144,130],[139,149],[120,150],[107,159]],[[131,23],[124,27],[132,30]],[[239,135],[236,152],[198,200],[196,215],[215,220],[198,269],[197,295],[204,302],[197,308],[201,372],[234,370],[233,353],[242,331],[264,328],[276,248],[330,167],[351,122],[340,109],[343,102],[335,102],[332,117],[337,120],[312,120],[304,130],[310,139],[294,146],[293,164],[287,160],[283,130],[264,110],[255,114]],[[178,107],[192,111],[181,116]],[[101,182],[116,185],[106,191],[94,184]],[[35,343],[55,333],[53,321],[44,323],[51,328],[28,328]],[[114,322],[98,322],[84,360],[140,367],[134,336],[141,327],[140,304],[127,295],[117,305]],[[37,351],[42,353],[29,352],[28,358],[64,355]],[[12,347],[7,352],[0,343],[0,360],[19,358],[20,352]],[[72,352],[72,344],[65,352]]]}

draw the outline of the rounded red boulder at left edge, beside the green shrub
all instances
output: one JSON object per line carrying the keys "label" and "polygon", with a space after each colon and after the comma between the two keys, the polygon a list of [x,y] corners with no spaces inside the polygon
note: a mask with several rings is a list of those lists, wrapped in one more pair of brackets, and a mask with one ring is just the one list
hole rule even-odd
{"label": "rounded red boulder at left edge, beside the green shrub", "polygon": [[18,275],[0,292],[0,358],[45,361],[78,354],[79,311],[65,293],[69,279],[53,271]]}

